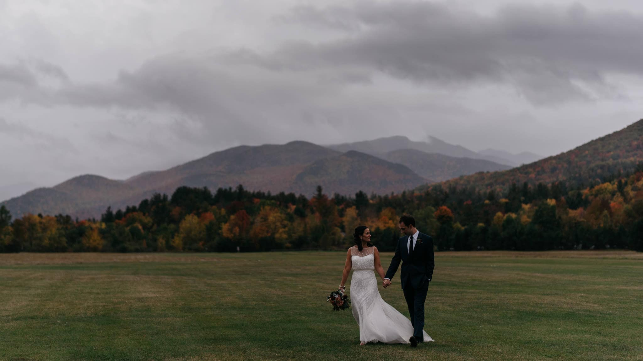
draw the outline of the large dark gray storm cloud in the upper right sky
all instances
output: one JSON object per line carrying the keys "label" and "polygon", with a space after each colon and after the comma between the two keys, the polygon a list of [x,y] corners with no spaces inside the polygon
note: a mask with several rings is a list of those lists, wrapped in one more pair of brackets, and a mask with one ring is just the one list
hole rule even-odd
{"label": "large dark gray storm cloud in the upper right sky", "polygon": [[502,82],[538,104],[595,99],[609,73],[643,74],[643,17],[566,7],[507,6],[489,17],[445,4],[300,6],[280,21],[349,33],[295,44],[271,60],[291,69],[368,67],[410,82]]}

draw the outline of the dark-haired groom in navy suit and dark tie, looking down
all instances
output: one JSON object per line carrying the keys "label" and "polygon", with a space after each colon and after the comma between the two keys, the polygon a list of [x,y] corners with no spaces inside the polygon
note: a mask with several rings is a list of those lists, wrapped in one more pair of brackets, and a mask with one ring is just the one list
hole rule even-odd
{"label": "dark-haired groom in navy suit and dark tie, looking down", "polygon": [[424,330],[424,300],[429,289],[431,277],[433,277],[433,238],[415,228],[415,218],[410,215],[403,215],[400,218],[399,227],[404,236],[397,240],[395,256],[391,265],[386,271],[384,287],[391,285],[391,279],[397,272],[397,267],[402,261],[402,290],[404,299],[408,305],[408,312],[411,313],[413,324],[413,336],[409,339],[411,347],[417,347],[418,342],[423,341]]}

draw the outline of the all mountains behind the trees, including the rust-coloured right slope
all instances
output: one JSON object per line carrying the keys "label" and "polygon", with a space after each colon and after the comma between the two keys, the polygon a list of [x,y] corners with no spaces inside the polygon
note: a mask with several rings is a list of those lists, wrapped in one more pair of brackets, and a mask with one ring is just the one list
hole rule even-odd
{"label": "all mountains behind the trees, including the rust-coloured right slope", "polygon": [[[565,180],[588,184],[643,162],[643,120],[568,152],[534,161],[538,155],[493,149],[473,152],[436,138],[411,141],[402,136],[320,146],[303,141],[285,145],[237,146],[159,172],[126,180],[81,175],[52,188],[37,188],[2,204],[14,217],[26,213],[97,217],[138,204],[153,193],[171,194],[179,186],[246,189],[312,195],[352,195],[442,186],[505,190],[512,183]],[[523,164],[512,168],[512,164]]]}

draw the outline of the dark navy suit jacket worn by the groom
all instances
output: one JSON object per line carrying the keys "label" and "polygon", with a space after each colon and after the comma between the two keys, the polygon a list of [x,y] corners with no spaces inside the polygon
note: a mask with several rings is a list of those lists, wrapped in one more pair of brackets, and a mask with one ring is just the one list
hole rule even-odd
{"label": "dark navy suit jacket worn by the groom", "polygon": [[435,268],[433,238],[424,233],[419,233],[415,241],[413,254],[409,257],[407,248],[409,237],[410,236],[403,236],[397,240],[395,255],[391,260],[391,265],[388,267],[385,276],[385,278],[393,279],[400,262],[402,262],[400,279],[403,289],[406,288],[406,286],[420,288],[424,283],[431,282],[433,268]]}

